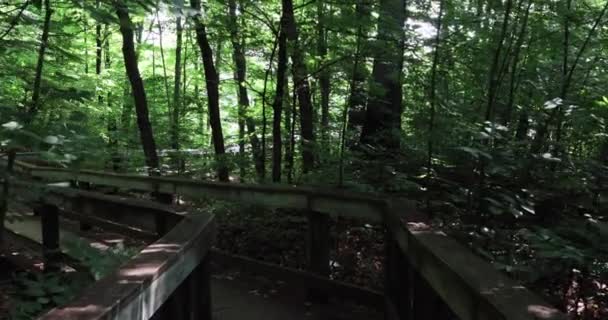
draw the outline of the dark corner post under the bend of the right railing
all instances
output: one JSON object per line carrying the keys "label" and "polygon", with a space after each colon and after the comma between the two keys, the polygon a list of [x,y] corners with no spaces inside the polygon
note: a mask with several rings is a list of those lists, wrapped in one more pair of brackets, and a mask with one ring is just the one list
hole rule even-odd
{"label": "dark corner post under the bend of the right railing", "polygon": [[390,230],[386,230],[384,239],[386,250],[386,259],[384,261],[386,281],[384,284],[386,299],[385,319],[417,319],[411,316],[411,267]]}

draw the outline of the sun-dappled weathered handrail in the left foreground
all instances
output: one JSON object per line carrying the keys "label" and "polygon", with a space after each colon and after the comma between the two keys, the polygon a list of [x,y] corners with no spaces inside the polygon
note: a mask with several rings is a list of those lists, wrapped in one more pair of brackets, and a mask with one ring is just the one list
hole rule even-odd
{"label": "sun-dappled weathered handrail in the left foreground", "polygon": [[[212,216],[188,215],[165,237],[146,247],[111,276],[93,284],[77,300],[38,319],[150,319],[183,283],[190,282],[188,287],[208,292],[208,271],[200,266],[206,265],[205,257],[216,230]],[[207,316],[210,304],[198,303],[184,312]]]}

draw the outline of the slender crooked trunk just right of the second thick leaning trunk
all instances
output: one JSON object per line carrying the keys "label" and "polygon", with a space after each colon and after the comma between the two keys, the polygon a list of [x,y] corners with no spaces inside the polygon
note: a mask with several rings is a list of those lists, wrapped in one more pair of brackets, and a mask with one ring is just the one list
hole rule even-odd
{"label": "slender crooked trunk just right of the second thick leaning trunk", "polygon": [[[247,135],[249,136],[249,142],[251,143],[251,149],[253,151],[253,163],[255,165],[258,179],[261,180],[264,176],[264,162],[262,160],[260,140],[258,139],[258,136],[255,132],[255,122],[253,121],[253,118],[248,114],[249,95],[246,87],[247,61],[245,59],[244,39],[241,39],[241,37],[239,36],[240,28],[238,25],[238,19],[236,14],[236,0],[229,0],[228,5],[230,7],[230,39],[232,42],[233,50],[232,58],[236,66],[236,81],[238,87],[237,94],[239,97],[239,122],[244,121],[244,124],[247,126]],[[240,4],[240,6],[242,7],[242,4]],[[239,123],[240,130],[241,127],[243,127],[243,123]]]}

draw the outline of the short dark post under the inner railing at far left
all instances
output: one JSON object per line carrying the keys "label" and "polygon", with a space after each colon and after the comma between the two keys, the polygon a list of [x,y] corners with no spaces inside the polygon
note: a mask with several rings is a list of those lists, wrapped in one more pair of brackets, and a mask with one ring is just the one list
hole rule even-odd
{"label": "short dark post under the inner railing at far left", "polygon": [[59,249],[59,209],[50,204],[42,204],[34,209],[42,220],[42,254],[44,271],[61,269],[61,251]]}

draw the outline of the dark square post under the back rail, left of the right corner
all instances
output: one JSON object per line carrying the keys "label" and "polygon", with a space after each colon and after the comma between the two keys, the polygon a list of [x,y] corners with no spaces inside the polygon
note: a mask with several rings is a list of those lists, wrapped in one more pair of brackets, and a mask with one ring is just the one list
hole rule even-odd
{"label": "dark square post under the back rail, left of the right corner", "polygon": [[[308,270],[329,278],[329,216],[319,212],[308,212]],[[311,301],[326,303],[327,294],[319,288],[309,288]]]}

